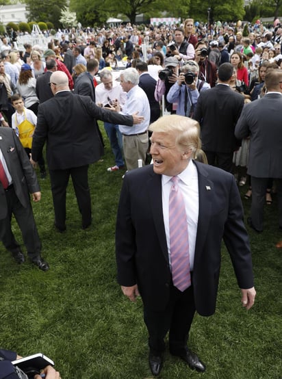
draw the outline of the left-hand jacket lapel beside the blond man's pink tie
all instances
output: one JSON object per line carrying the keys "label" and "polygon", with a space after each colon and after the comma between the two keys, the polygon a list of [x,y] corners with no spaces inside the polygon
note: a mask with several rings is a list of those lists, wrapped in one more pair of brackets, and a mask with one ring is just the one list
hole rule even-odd
{"label": "left-hand jacket lapel beside the blond man's pink tie", "polygon": [[164,217],[162,212],[162,175],[152,173],[152,176],[148,181],[148,192],[159,245],[162,248],[166,262],[169,263],[166,231],[164,228]]}

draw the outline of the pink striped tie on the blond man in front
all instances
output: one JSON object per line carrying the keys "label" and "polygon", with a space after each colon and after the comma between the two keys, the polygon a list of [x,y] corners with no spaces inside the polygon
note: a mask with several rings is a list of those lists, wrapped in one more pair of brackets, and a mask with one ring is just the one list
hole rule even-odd
{"label": "pink striped tie on the blond man in front", "polygon": [[172,282],[183,292],[191,285],[189,239],[185,203],[178,187],[179,177],[172,177],[169,196],[170,264]]}

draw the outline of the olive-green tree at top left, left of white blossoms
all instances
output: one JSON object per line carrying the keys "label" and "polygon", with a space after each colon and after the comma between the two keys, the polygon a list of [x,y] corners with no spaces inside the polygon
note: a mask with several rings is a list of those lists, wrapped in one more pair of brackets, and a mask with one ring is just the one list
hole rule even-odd
{"label": "olive-green tree at top left, left of white blossoms", "polygon": [[66,0],[25,0],[27,4],[28,21],[52,21],[55,27],[61,27],[61,10],[66,6]]}

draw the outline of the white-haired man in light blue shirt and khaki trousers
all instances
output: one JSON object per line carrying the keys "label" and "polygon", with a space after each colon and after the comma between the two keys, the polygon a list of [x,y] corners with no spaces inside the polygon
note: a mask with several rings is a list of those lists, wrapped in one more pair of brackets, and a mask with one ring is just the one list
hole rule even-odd
{"label": "white-haired man in light blue shirt and khaki trousers", "polygon": [[138,160],[145,164],[146,153],[149,148],[148,127],[150,123],[150,105],[146,93],[138,86],[139,74],[135,68],[127,68],[120,74],[120,86],[127,92],[127,101],[121,108],[116,102],[116,110],[121,114],[129,115],[138,112],[144,121],[140,124],[127,127],[120,125],[120,133],[123,134],[123,153],[127,170],[138,168]]}

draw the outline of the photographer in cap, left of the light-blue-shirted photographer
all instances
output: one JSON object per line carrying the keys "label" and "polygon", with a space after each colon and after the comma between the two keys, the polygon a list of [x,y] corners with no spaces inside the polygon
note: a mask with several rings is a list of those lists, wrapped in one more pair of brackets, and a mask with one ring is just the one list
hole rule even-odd
{"label": "photographer in cap, left of the light-blue-shirted photographer", "polygon": [[166,57],[164,60],[164,70],[159,71],[159,79],[157,86],[155,86],[155,99],[162,101],[164,95],[164,101],[166,103],[166,110],[170,114],[175,114],[177,105],[169,103],[166,99],[168,91],[177,82],[179,73],[179,61],[176,57]]}

